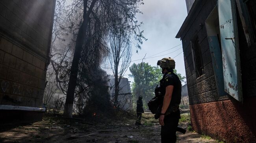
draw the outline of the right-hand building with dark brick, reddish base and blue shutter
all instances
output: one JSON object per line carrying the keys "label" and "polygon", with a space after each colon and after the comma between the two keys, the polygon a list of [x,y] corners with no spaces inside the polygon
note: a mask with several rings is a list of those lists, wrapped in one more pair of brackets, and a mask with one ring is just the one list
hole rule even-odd
{"label": "right-hand building with dark brick, reddish base and blue shutter", "polygon": [[191,125],[227,142],[256,142],[256,1],[195,0],[182,40]]}

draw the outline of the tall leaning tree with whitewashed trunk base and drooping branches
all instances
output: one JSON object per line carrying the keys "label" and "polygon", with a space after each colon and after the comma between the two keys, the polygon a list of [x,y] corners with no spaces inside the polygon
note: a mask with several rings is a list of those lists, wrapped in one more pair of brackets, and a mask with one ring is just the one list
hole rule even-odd
{"label": "tall leaning tree with whitewashed trunk base and drooping branches", "polygon": [[[124,18],[127,25],[123,31],[132,35],[137,48],[140,49],[142,40],[145,39],[143,31],[139,30],[139,25],[135,19],[135,14],[139,13],[138,5],[142,0],[74,0],[70,13],[77,13],[78,18],[71,22],[70,29],[74,29],[75,46],[74,56],[70,67],[68,78],[67,97],[65,102],[64,116],[72,117],[72,108],[74,103],[75,92],[84,90],[88,83],[81,80],[83,76],[91,76],[90,65],[97,67],[102,60],[104,49],[107,48],[106,37],[111,33],[111,26],[117,25],[116,18]],[[81,16],[81,19],[79,16]],[[69,17],[70,18],[70,17]],[[74,18],[70,18],[74,21]],[[77,28],[77,25],[79,25]],[[89,62],[85,62],[89,61]],[[94,68],[98,70],[98,68]],[[87,80],[90,80],[87,78]],[[80,84],[79,86],[77,86]],[[97,87],[92,85],[93,87]],[[81,90],[82,89],[82,90]]]}

